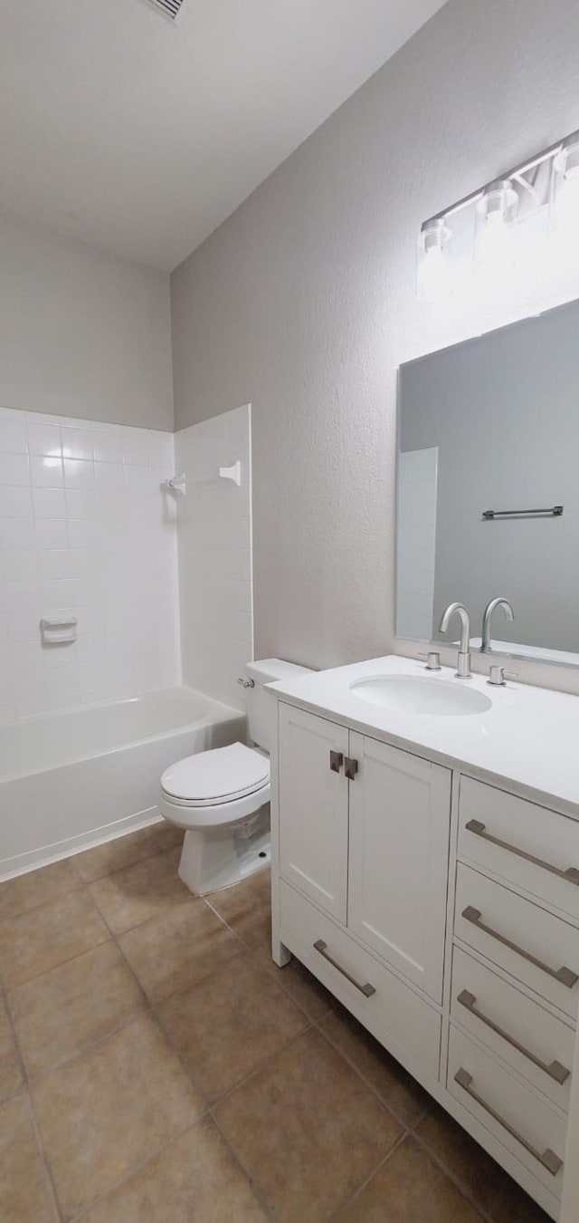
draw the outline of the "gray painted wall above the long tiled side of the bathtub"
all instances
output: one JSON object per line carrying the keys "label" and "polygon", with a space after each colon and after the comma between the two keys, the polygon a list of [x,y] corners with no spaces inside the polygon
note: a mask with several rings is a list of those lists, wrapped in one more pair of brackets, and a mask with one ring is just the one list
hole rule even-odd
{"label": "gray painted wall above the long tiled side of the bathtub", "polygon": [[2,407],[172,429],[169,276],[0,216]]}

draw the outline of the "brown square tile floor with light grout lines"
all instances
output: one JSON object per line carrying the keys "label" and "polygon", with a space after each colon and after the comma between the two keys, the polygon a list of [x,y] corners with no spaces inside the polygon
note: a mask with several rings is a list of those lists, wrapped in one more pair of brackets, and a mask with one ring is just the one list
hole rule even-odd
{"label": "brown square tile floor with light grout lines", "polygon": [[158,824],[0,884],[1,1223],[546,1223]]}

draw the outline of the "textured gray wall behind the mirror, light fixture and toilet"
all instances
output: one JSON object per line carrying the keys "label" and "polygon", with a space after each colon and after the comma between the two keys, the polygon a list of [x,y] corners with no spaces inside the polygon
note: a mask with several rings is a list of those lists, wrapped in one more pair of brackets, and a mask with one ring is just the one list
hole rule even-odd
{"label": "textured gray wall behind the mirror, light fixture and toilet", "polygon": [[252,401],[255,649],[393,643],[396,373],[579,296],[417,302],[424,218],[579,127],[577,0],[450,0],[172,276],[177,427]]}

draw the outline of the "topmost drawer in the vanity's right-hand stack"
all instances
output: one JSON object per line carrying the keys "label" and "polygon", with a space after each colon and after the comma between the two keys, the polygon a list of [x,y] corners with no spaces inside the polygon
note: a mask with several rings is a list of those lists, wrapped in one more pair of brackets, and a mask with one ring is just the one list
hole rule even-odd
{"label": "topmost drawer in the vanity's right-hand stack", "polygon": [[579,822],[461,778],[458,856],[579,921]]}

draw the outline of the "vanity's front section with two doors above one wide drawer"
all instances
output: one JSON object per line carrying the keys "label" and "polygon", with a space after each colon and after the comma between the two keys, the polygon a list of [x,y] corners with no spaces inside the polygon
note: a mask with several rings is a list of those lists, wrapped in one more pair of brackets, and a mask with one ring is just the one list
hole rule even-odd
{"label": "vanity's front section with two doors above one wide drawer", "polygon": [[437,1077],[451,772],[280,703],[276,781],[281,942]]}

